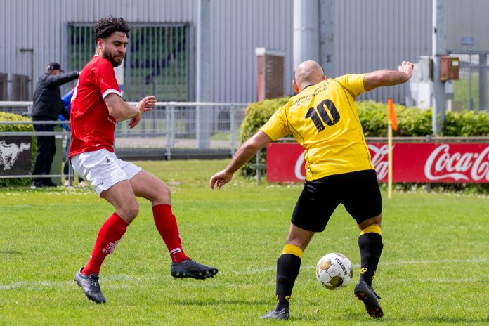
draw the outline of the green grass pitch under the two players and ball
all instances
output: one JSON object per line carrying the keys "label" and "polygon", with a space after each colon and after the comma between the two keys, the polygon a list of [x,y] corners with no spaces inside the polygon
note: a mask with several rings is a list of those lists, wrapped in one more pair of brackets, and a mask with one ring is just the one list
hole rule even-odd
{"label": "green grass pitch under the two players and ball", "polygon": [[[221,191],[211,174],[227,161],[139,162],[172,188],[183,248],[219,268],[215,278],[174,280],[149,202],[100,271],[107,304],[86,299],[73,275],[112,207],[91,190],[0,190],[0,325],[277,325],[275,261],[301,185],[256,185],[236,176]],[[353,297],[359,230],[343,207],[304,253],[289,325],[488,325],[488,197],[384,195],[384,252],[374,281],[385,317]],[[341,252],[351,285],[328,291],[318,259]]]}

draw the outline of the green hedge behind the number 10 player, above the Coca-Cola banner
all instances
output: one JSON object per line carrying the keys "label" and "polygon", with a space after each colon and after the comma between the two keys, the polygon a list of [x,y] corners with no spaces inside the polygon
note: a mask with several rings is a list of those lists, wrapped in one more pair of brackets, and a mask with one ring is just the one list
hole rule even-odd
{"label": "green hedge behind the number 10 player, above the Coca-Cola banner", "polygon": [[[247,107],[241,126],[241,143],[252,136],[265,124],[278,107],[285,105],[289,97],[275,98],[252,103]],[[363,126],[365,137],[387,136],[387,104],[372,100],[356,102],[358,117]],[[398,130],[393,133],[398,137],[431,135],[431,110],[418,107],[405,107],[395,104],[398,117]],[[489,136],[489,112],[447,112],[441,136]],[[254,176],[252,164],[254,157],[241,169],[244,176]],[[266,162],[266,152],[261,153],[261,163]]]}

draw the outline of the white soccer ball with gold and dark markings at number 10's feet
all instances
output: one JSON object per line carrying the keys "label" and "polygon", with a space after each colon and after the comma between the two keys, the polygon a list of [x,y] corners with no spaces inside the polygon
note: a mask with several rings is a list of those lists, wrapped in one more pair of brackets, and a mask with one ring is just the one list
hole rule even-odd
{"label": "white soccer ball with gold and dark markings at number 10's feet", "polygon": [[327,289],[342,289],[351,281],[351,261],[342,254],[322,256],[316,266],[316,278]]}

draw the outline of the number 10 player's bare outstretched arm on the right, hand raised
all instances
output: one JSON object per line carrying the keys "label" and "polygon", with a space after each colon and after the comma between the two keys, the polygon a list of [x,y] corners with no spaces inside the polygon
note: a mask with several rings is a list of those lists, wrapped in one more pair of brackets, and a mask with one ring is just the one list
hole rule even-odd
{"label": "number 10 player's bare outstretched arm on the right, hand raised", "polygon": [[412,76],[412,69],[415,66],[409,61],[403,61],[396,70],[377,70],[368,72],[363,79],[363,88],[365,91],[372,91],[380,86],[394,86],[403,84]]}

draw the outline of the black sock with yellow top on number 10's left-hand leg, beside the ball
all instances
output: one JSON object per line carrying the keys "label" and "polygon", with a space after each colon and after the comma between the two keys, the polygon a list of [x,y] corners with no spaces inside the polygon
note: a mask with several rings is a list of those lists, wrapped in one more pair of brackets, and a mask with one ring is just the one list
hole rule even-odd
{"label": "black sock with yellow top on number 10's left-hand leg, beside the ball", "polygon": [[301,269],[302,253],[302,249],[294,244],[285,244],[282,255],[277,259],[277,287],[275,291],[278,299],[277,308],[275,308],[277,311],[289,307],[292,288]]}

